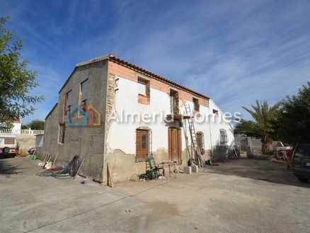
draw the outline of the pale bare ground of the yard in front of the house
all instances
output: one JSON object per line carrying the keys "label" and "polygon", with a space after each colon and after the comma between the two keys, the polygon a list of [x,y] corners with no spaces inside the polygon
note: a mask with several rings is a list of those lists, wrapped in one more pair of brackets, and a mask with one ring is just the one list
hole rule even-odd
{"label": "pale bare ground of the yard in front of the house", "polygon": [[310,183],[284,164],[238,159],[108,188],[35,176],[37,163],[0,159],[0,232],[310,231]]}

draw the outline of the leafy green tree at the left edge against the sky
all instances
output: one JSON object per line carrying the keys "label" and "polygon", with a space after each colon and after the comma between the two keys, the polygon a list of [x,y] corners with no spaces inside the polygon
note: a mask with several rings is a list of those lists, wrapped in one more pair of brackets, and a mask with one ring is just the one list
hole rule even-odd
{"label": "leafy green tree at the left edge against the sky", "polygon": [[33,113],[35,103],[44,100],[30,95],[38,86],[38,74],[28,69],[28,61],[21,57],[22,40],[15,40],[11,30],[4,28],[8,20],[0,17],[0,125]]}

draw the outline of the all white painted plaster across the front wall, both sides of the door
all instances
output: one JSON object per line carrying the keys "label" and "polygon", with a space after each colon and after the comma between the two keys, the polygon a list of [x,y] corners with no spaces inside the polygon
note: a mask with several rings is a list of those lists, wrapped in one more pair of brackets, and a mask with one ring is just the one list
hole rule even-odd
{"label": "all white painted plaster across the front wall, both sides of the door", "polygon": [[[119,89],[116,93],[115,98],[115,113],[121,116],[122,113],[162,113],[163,117],[166,114],[170,114],[170,96],[163,91],[151,89],[150,91],[150,104],[144,105],[138,103],[137,96],[139,86],[136,82],[128,79],[118,77],[117,81]],[[193,102],[180,100],[180,110],[185,112],[184,103],[190,103],[191,110],[193,111]],[[215,105],[212,100],[209,100],[209,108],[206,106],[200,106],[200,113],[208,116],[210,113],[213,115],[212,110],[216,109],[219,111],[219,117],[223,115],[222,111]],[[158,117],[159,119],[159,117]],[[219,130],[226,130],[228,137],[228,144],[234,143],[234,132],[233,127],[230,123],[225,123],[223,120],[219,122],[217,118],[216,122],[210,123],[204,121],[203,123],[194,123],[195,130],[202,131],[205,138],[205,149],[212,149],[217,143],[219,143]],[[159,120],[156,123],[117,123],[116,120],[110,121],[110,130],[108,132],[108,149],[121,149],[126,154],[135,154],[136,150],[136,129],[139,126],[147,126],[152,130],[152,149],[153,152],[156,149],[168,148],[168,127],[165,123],[161,123]],[[188,127],[188,125],[187,125]],[[188,132],[188,128],[186,129]],[[188,133],[190,140],[190,135]],[[185,149],[185,137],[182,129],[182,147]]]}

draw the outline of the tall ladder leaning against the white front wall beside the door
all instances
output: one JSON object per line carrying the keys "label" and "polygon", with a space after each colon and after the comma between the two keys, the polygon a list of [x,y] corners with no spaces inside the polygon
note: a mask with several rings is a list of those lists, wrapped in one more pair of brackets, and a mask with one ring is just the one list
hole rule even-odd
{"label": "tall ladder leaning against the white front wall beside the door", "polygon": [[[190,105],[189,104],[185,105],[185,112],[186,112],[186,115],[190,115],[190,116],[192,115],[192,113],[190,111]],[[195,126],[194,126],[193,120],[192,120],[192,118],[188,118],[187,120],[188,120],[188,127],[190,130],[190,139],[191,139],[192,147],[193,147],[193,150],[195,153],[195,164],[197,164],[200,167],[203,167],[201,152],[200,152],[200,149],[197,145],[196,131],[195,131]],[[185,137],[186,137],[186,135],[185,135]],[[192,161],[193,161],[193,159],[190,159],[188,162],[188,165],[192,165],[192,163],[193,163]]]}

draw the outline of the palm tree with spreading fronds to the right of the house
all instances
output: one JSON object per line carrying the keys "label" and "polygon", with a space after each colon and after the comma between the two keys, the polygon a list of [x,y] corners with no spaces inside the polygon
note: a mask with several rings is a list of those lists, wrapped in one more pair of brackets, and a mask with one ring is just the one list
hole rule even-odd
{"label": "palm tree with spreading fronds to the right of the house", "polygon": [[272,132],[274,132],[272,123],[277,118],[279,112],[280,102],[275,103],[274,106],[269,106],[267,101],[256,101],[256,106],[251,105],[253,110],[242,107],[251,114],[252,120],[241,120],[239,125],[239,132],[245,134],[260,135],[262,142],[262,153],[272,150]]}

